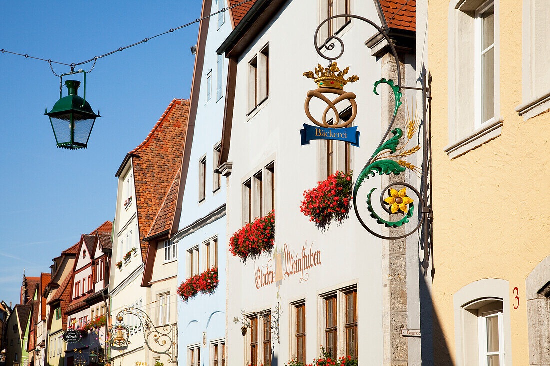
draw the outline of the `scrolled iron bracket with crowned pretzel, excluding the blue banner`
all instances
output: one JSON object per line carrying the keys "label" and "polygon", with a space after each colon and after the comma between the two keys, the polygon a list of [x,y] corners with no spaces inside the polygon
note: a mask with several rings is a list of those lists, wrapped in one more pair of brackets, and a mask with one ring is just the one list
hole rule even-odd
{"label": "scrolled iron bracket with crowned pretzel, excluding the blue banner", "polygon": [[[380,143],[379,143],[378,147],[376,148],[375,152],[372,154],[371,158],[368,159],[368,161],[365,164],[364,168],[361,170],[361,173],[357,176],[357,180],[355,181],[354,190],[353,190],[353,205],[354,205],[355,214],[357,216],[357,219],[359,219],[361,225],[363,225],[364,228],[368,232],[370,232],[372,235],[375,235],[375,236],[380,237],[382,239],[401,239],[401,238],[409,236],[412,233],[414,233],[415,231],[419,230],[419,228],[422,226],[423,223],[426,223],[426,221],[428,219],[432,218],[431,207],[427,206],[427,201],[428,201],[428,197],[427,197],[428,131],[427,131],[426,120],[427,120],[427,103],[428,103],[428,98],[430,98],[427,83],[426,83],[426,80],[425,80],[425,77],[424,77],[422,79],[422,87],[421,88],[401,86],[401,67],[400,67],[399,57],[398,57],[397,51],[395,51],[395,47],[393,45],[393,42],[390,40],[390,38],[386,34],[385,27],[379,27],[378,25],[373,23],[373,21],[368,20],[366,18],[363,18],[362,16],[351,15],[351,14],[342,14],[342,15],[334,15],[334,16],[331,16],[331,17],[323,20],[321,22],[321,24],[317,27],[317,30],[315,31],[315,36],[313,38],[313,42],[315,44],[315,48],[317,50],[317,53],[322,58],[324,58],[324,59],[326,59],[330,62],[329,67],[326,70],[330,70],[330,69],[334,70],[334,73],[332,74],[332,76],[339,77],[339,80],[342,80],[343,85],[337,85],[337,86],[322,85],[323,83],[320,82],[320,81],[322,81],[321,77],[322,76],[326,77],[326,73],[323,73],[323,75],[321,75],[320,73],[317,72],[319,70],[322,70],[322,66],[319,65],[319,68],[316,69],[317,77],[314,77],[313,73],[311,71],[309,71],[307,73],[304,73],[304,75],[306,77],[311,78],[311,79],[315,79],[315,81],[317,82],[317,84],[319,85],[320,88],[331,88],[331,87],[332,88],[334,88],[334,87],[338,87],[338,88],[342,87],[343,88],[343,86],[345,85],[346,82],[354,82],[354,81],[359,80],[359,78],[357,78],[356,76],[352,76],[351,78],[349,78],[347,80],[343,79],[343,76],[348,73],[349,68],[343,70],[340,74],[337,74],[337,71],[340,71],[340,70],[337,67],[337,63],[335,63],[334,61],[339,59],[344,54],[344,42],[339,37],[337,37],[336,35],[329,36],[326,39],[326,41],[324,41],[324,43],[321,47],[317,43],[318,34],[319,34],[319,31],[321,30],[321,27],[324,24],[326,24],[327,22],[332,21],[333,19],[336,19],[336,18],[356,19],[356,20],[364,21],[365,23],[368,23],[371,26],[373,26],[379,32],[379,34],[381,34],[385,38],[385,40],[388,43],[388,46],[390,48],[390,52],[392,53],[392,55],[395,59],[395,62],[397,63],[397,83],[395,83],[393,80],[386,80],[386,79],[381,79],[381,80],[378,80],[374,83],[374,93],[375,93],[375,95],[378,95],[377,88],[380,84],[386,84],[392,89],[393,95],[395,97],[395,107],[394,107],[393,117],[390,120],[390,123],[388,125],[388,129],[386,130],[385,134],[383,135],[382,140],[380,141]],[[327,51],[329,51],[328,53],[331,53],[330,51],[333,51],[334,48],[336,47],[335,43],[339,44],[339,47],[341,48],[341,50],[334,57],[331,57],[327,54],[323,54],[323,52],[321,52],[321,49],[325,48]],[[329,75],[329,76],[331,76],[331,75]],[[334,84],[334,82],[332,82],[331,84]],[[337,84],[338,84],[338,82],[337,82]],[[411,90],[422,91],[422,118],[423,118],[422,119],[422,131],[423,131],[423,141],[422,141],[422,143],[423,143],[423,146],[416,145],[416,146],[414,146],[412,148],[409,148],[409,149],[405,148],[405,147],[408,146],[408,143],[411,141],[412,137],[414,137],[416,135],[416,132],[419,128],[420,121],[417,120],[416,118],[410,118],[409,120],[405,120],[405,125],[406,125],[406,130],[407,130],[405,135],[404,135],[404,131],[401,130],[400,128],[398,128],[398,127],[393,128],[393,125],[395,123],[395,118],[397,117],[398,109],[401,106],[401,104],[403,104],[403,102],[401,101],[401,98],[403,97],[403,93],[401,92],[401,89],[411,89]],[[317,91],[310,91],[310,92],[307,93],[307,99],[306,99],[306,104],[305,104],[306,115],[312,121],[314,121],[314,120],[312,119],[311,114],[309,112],[309,101],[311,99],[311,96],[313,96],[313,95],[317,96],[318,93],[316,93],[316,92],[320,92],[320,90],[321,89],[317,89]],[[326,90],[326,89],[324,89],[324,90]],[[327,91],[325,91],[325,92],[327,92]],[[340,96],[345,95],[345,94],[353,94],[353,93],[344,93],[343,90],[341,90],[341,91],[336,90],[336,91],[332,91],[332,92],[335,93],[335,94],[338,94]],[[327,98],[324,98],[324,99],[327,99]],[[338,123],[337,123],[337,121],[339,121],[338,111],[335,110],[335,107],[334,107],[334,104],[338,103],[340,101],[340,99],[342,99],[342,98],[337,98],[332,103],[327,102],[329,107],[327,107],[327,109],[324,111],[324,114],[323,114],[323,121],[324,121],[326,119],[326,114],[327,114],[328,110],[332,109],[334,111],[335,123],[331,127],[335,128],[335,129],[338,129],[338,128],[344,126],[344,125],[340,125],[340,126],[338,125]],[[349,99],[351,99],[350,102],[351,102],[351,105],[353,107],[353,111],[352,111],[353,115],[352,115],[351,119],[354,119],[356,117],[356,111],[357,111],[357,106],[355,104],[355,95],[353,94],[353,98],[349,98]],[[346,125],[348,125],[348,124],[346,124]],[[388,138],[390,132],[393,134],[393,136]],[[419,167],[416,167],[415,165],[412,165],[410,162],[406,161],[406,158],[405,158],[405,157],[411,156],[412,154],[416,153],[417,151],[420,151],[420,149],[422,149],[422,152],[423,152],[422,168],[419,168]],[[376,187],[372,188],[372,190],[367,194],[367,201],[366,201],[367,210],[368,210],[368,212],[370,212],[370,217],[372,219],[375,219],[378,224],[384,225],[387,228],[398,228],[399,226],[402,226],[405,223],[409,222],[409,219],[413,217],[415,209],[416,209],[417,213],[419,215],[418,223],[417,223],[417,225],[415,226],[414,229],[412,229],[408,232],[405,232],[405,234],[400,234],[400,235],[397,235],[397,236],[386,236],[386,235],[379,234],[378,232],[373,230],[370,226],[368,226],[367,223],[365,222],[366,220],[361,216],[361,213],[359,212],[359,208],[357,208],[357,192],[359,192],[359,189],[361,188],[361,185],[365,182],[366,179],[374,177],[374,176],[376,176],[376,174],[378,174],[378,175],[384,175],[384,174],[391,175],[391,174],[393,174],[393,175],[397,176],[397,175],[403,173],[404,171],[406,171],[408,169],[411,170],[413,173],[415,173],[416,175],[418,175],[420,177],[421,184],[422,184],[422,187],[423,187],[423,190],[422,190],[423,192],[422,193],[419,190],[417,190],[417,188],[415,188],[414,186],[412,186],[408,183],[394,182],[394,183],[391,183],[391,184],[387,185],[386,187],[384,187],[383,190],[382,190],[382,193],[380,195],[380,204],[381,204],[383,210],[385,210],[386,213],[388,213],[388,214],[402,214],[402,217],[398,220],[395,220],[395,221],[384,220],[375,211],[375,209],[372,206],[372,195],[375,192]],[[395,188],[403,187],[403,188],[394,189],[394,187]],[[418,207],[415,206],[415,203],[414,203],[415,199],[408,196],[410,194],[410,192],[409,193],[407,192],[407,188],[409,188],[409,190],[412,191],[414,193],[414,195],[416,196],[415,199],[418,202]],[[386,196],[386,197],[384,198],[384,196]],[[425,239],[426,239],[426,236],[428,235],[427,234],[428,228],[426,226],[428,226],[428,225],[425,225],[425,229],[424,229]]]}

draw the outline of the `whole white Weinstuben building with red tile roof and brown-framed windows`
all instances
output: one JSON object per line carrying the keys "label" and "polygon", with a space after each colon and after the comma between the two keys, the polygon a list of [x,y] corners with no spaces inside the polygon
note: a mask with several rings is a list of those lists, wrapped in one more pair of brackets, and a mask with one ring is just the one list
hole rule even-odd
{"label": "whole white Weinstuben building with red tile roof and brown-framed windows", "polygon": [[[329,16],[344,14],[387,27],[401,61],[400,86],[416,87],[414,12],[415,2],[408,0],[258,0],[248,11],[235,11],[240,21],[217,50],[229,64],[218,162],[218,170],[228,176],[227,237],[272,210],[275,235],[274,247],[256,257],[227,252],[230,363],[281,365],[297,359],[309,364],[324,350],[332,358],[350,357],[361,365],[422,364],[420,337],[401,333],[421,325],[419,238],[378,239],[365,230],[353,208],[341,223],[323,228],[300,212],[304,191],[338,171],[353,171],[355,182],[395,110],[394,92],[384,85],[376,96],[372,85],[398,82],[398,64],[375,27],[343,16],[323,23],[315,40],[317,27]],[[350,126],[361,131],[360,147],[327,139],[300,145],[299,129],[310,123],[304,101],[318,87],[304,73],[317,65],[324,71],[331,64],[316,52],[314,40],[324,56],[342,51],[340,70],[350,66],[349,75],[359,76],[345,91],[356,95],[357,115]],[[325,40],[334,43],[332,51],[323,46]],[[415,92],[403,93],[409,101],[415,99]],[[353,113],[349,103],[332,108],[316,102],[307,107],[317,120],[323,116],[332,124]],[[405,131],[400,122],[393,127]],[[401,174],[399,182],[414,181],[410,173]],[[388,184],[386,176],[376,176],[365,186],[380,192]],[[370,219],[366,193],[360,194],[359,209]],[[390,232],[377,225],[373,220],[379,234]],[[405,228],[414,225],[397,230]],[[246,249],[247,242],[252,240],[237,242],[233,251]]]}

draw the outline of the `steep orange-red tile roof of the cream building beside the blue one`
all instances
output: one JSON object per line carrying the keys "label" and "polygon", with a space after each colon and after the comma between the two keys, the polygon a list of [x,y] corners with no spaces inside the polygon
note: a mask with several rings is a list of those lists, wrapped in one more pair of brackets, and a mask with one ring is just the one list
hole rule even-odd
{"label": "steep orange-red tile roof of the cream building beside the blue one", "polygon": [[[141,239],[150,231],[182,162],[188,117],[189,101],[174,99],[145,141],[130,152]],[[145,262],[145,242],[141,242],[141,253]]]}

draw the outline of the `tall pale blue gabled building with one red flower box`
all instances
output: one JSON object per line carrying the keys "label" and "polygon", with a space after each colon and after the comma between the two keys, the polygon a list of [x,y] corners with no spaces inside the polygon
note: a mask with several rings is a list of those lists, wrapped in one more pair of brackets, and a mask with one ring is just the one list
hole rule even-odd
{"label": "tall pale blue gabled building with one red flower box", "polygon": [[[181,218],[171,232],[179,252],[179,285],[211,271],[219,278],[212,293],[199,292],[181,306],[178,362],[184,365],[226,362],[227,193],[226,180],[215,169],[221,152],[228,63],[216,49],[233,30],[234,19],[229,12],[213,14],[230,5],[226,0],[202,4],[201,18],[208,18],[200,23],[197,41],[176,209]],[[171,302],[180,303],[182,298],[172,293]]]}

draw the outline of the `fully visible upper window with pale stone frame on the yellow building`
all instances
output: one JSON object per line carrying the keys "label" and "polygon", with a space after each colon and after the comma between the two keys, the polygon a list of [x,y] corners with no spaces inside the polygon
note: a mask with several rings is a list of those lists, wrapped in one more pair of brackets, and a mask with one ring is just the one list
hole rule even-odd
{"label": "fully visible upper window with pale stone frame on the yellow building", "polygon": [[[494,117],[481,124],[480,79],[477,59],[480,27],[476,12],[483,0],[451,0],[449,4],[449,145],[450,159],[480,147],[502,134],[504,117],[500,114],[500,18],[499,2],[494,0]],[[474,45],[472,47],[472,45]],[[479,46],[480,47],[480,46]],[[474,70],[474,73],[472,73]],[[477,70],[477,71],[476,71]],[[474,86],[472,88],[472,85]],[[477,117],[480,115],[480,117]],[[479,121],[477,119],[479,118]]]}

